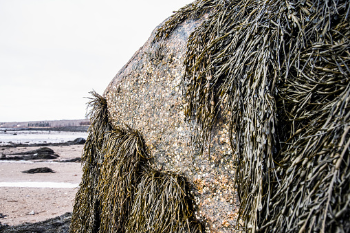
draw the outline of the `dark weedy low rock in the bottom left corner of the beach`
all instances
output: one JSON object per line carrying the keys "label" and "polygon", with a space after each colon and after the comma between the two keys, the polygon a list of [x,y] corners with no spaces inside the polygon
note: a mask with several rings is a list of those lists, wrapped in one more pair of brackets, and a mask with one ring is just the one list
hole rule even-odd
{"label": "dark weedy low rock in the bottom left corner of the beach", "polygon": [[54,219],[47,219],[39,223],[24,223],[16,226],[8,226],[0,224],[0,232],[61,232],[65,233],[69,230],[72,219],[72,212],[67,212]]}

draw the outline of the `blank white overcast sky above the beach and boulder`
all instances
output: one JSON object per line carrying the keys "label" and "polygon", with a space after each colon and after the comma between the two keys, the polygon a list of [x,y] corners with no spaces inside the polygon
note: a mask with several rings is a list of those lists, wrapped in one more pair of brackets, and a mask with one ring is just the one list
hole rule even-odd
{"label": "blank white overcast sky above the beach and boulder", "polygon": [[0,0],[0,122],[85,118],[153,29],[192,0]]}

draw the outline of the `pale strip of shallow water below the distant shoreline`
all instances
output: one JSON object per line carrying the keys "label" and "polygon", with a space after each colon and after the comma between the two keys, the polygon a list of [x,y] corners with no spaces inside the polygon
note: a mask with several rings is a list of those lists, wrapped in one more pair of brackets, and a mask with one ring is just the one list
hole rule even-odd
{"label": "pale strip of shallow water below the distant shoreline", "polygon": [[0,129],[0,146],[8,144],[58,143],[73,141],[78,137],[87,138],[86,132],[67,131],[26,131],[23,129]]}

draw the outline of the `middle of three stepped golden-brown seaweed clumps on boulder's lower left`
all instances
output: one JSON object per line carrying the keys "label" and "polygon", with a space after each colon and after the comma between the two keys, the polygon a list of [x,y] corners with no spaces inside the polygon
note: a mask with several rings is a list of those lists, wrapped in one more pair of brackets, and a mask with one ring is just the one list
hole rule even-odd
{"label": "middle of three stepped golden-brown seaweed clumps on boulder's lower left", "polygon": [[125,232],[142,166],[150,157],[138,131],[129,126],[107,135],[105,161],[98,185],[101,201],[100,232]]}

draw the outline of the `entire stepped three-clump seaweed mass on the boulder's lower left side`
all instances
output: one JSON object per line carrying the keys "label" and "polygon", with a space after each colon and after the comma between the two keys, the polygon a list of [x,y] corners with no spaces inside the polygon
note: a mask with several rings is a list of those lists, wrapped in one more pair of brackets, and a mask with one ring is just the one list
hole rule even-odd
{"label": "entire stepped three-clump seaweed mass on the boulder's lower left side", "polygon": [[[201,223],[193,214],[190,183],[181,175],[155,171],[139,131],[129,126],[113,127],[105,98],[96,92],[92,95],[83,177],[69,232],[201,232]],[[148,176],[155,173],[157,176]],[[145,184],[152,188],[144,190]],[[150,217],[154,213],[159,219],[143,219],[139,225],[140,214]]]}

